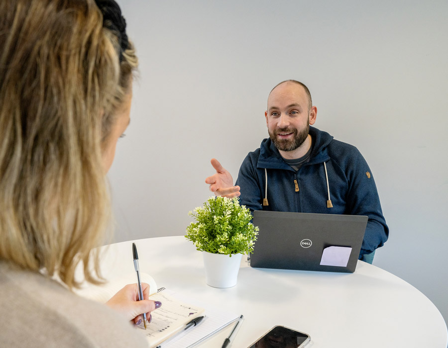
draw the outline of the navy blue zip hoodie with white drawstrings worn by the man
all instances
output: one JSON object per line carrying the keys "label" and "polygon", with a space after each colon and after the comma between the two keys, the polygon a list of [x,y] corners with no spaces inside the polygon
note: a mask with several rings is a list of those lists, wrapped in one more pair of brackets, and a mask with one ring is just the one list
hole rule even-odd
{"label": "navy blue zip hoodie with white drawstrings worn by the man", "polygon": [[[367,215],[359,258],[372,253],[384,245],[389,235],[372,172],[354,146],[314,127],[310,127],[310,135],[310,161],[297,172],[283,160],[270,139],[264,139],[260,148],[249,152],[236,180],[240,203],[252,211]],[[262,205],[263,198],[269,205]]]}

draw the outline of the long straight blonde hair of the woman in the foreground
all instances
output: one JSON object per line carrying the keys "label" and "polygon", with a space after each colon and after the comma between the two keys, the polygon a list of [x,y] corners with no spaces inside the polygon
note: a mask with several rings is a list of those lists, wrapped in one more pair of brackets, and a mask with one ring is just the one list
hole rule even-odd
{"label": "long straight blonde hair of the woman in the foreground", "polygon": [[93,0],[0,1],[0,18],[0,259],[70,288],[83,261],[96,282],[90,252],[111,217],[102,147],[133,46],[120,53]]}

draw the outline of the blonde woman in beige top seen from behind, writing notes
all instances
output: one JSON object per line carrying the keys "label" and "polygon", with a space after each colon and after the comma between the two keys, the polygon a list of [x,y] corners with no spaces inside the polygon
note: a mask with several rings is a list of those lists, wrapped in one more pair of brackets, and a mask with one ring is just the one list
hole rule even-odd
{"label": "blonde woman in beige top seen from behind, writing notes", "polygon": [[71,291],[80,262],[98,282],[105,174],[129,123],[137,59],[120,9],[0,1],[0,47],[0,346],[145,347],[129,322],[156,307],[147,284],[143,301],[120,290],[115,311]]}

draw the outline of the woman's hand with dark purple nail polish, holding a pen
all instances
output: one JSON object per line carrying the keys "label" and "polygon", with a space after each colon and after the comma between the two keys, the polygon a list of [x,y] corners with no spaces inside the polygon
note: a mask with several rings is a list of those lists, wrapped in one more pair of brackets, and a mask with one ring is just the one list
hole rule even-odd
{"label": "woman's hand with dark purple nail polish, holding a pen", "polygon": [[135,325],[139,325],[143,320],[143,313],[146,313],[146,319],[151,322],[151,312],[159,308],[162,303],[159,301],[150,301],[149,285],[141,283],[143,290],[143,300],[138,300],[137,284],[128,284],[119,290],[112,298],[106,302],[106,305],[115,311],[124,315],[124,317],[132,321]]}

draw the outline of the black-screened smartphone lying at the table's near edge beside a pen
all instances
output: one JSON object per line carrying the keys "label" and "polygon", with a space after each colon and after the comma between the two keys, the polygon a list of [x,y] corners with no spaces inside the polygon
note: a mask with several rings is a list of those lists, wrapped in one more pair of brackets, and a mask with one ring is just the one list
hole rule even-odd
{"label": "black-screened smartphone lying at the table's near edge beside a pen", "polygon": [[310,335],[277,325],[248,348],[302,348],[310,341]]}

